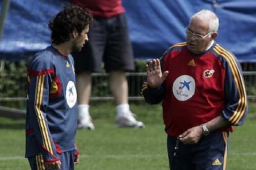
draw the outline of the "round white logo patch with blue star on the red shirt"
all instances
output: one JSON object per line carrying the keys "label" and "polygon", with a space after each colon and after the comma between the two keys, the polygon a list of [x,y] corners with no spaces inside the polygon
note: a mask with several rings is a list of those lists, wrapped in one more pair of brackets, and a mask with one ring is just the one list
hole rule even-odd
{"label": "round white logo patch with blue star on the red shirt", "polygon": [[179,101],[189,100],[195,94],[195,80],[192,76],[179,76],[173,83],[173,95]]}

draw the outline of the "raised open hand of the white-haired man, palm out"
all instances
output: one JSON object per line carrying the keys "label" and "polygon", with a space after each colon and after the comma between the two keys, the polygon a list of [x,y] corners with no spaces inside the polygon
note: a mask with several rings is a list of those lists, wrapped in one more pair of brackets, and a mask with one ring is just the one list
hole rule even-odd
{"label": "raised open hand of the white-haired man, palm out", "polygon": [[146,65],[148,86],[157,88],[161,86],[169,71],[164,71],[162,74],[159,59],[153,59]]}

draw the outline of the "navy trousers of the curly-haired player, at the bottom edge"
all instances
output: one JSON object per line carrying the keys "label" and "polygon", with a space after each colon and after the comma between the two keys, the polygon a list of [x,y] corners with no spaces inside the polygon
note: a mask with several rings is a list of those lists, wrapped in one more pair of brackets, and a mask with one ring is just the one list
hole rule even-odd
{"label": "navy trousers of the curly-haired player, at the bottom edge", "polygon": [[[74,170],[74,152],[63,152],[59,155],[62,170]],[[28,158],[32,170],[48,170],[45,168],[43,155],[35,155]]]}

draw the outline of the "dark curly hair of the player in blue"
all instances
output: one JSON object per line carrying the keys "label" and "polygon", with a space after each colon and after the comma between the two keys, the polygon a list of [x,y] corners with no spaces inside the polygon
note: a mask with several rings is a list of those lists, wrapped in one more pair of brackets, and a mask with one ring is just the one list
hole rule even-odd
{"label": "dark curly hair of the player in blue", "polygon": [[69,41],[70,33],[77,31],[79,34],[87,25],[93,23],[93,15],[89,9],[79,6],[64,6],[53,20],[48,23],[51,30],[51,42],[61,44]]}

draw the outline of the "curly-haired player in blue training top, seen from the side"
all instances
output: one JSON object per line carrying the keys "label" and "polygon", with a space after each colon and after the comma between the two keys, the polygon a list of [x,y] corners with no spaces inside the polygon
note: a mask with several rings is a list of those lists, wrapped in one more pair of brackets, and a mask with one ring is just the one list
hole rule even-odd
{"label": "curly-haired player in blue training top, seen from the side", "polygon": [[71,52],[88,41],[93,15],[79,6],[64,7],[49,21],[51,46],[28,64],[26,153],[31,169],[74,169],[77,91]]}

